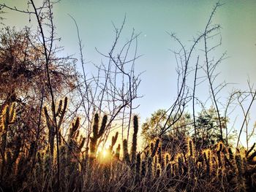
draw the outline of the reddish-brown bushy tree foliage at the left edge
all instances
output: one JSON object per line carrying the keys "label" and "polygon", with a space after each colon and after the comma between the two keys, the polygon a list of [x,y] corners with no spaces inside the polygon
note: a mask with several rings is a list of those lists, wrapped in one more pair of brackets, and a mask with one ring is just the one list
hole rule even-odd
{"label": "reddish-brown bushy tree foliage at the left edge", "polygon": [[[43,47],[29,28],[17,31],[2,28],[0,32],[0,99],[12,101],[48,96]],[[66,62],[66,63],[65,63]],[[50,58],[51,84],[56,91],[73,84],[72,67],[64,59]],[[30,97],[29,97],[30,96]],[[16,98],[17,97],[17,98]]]}

